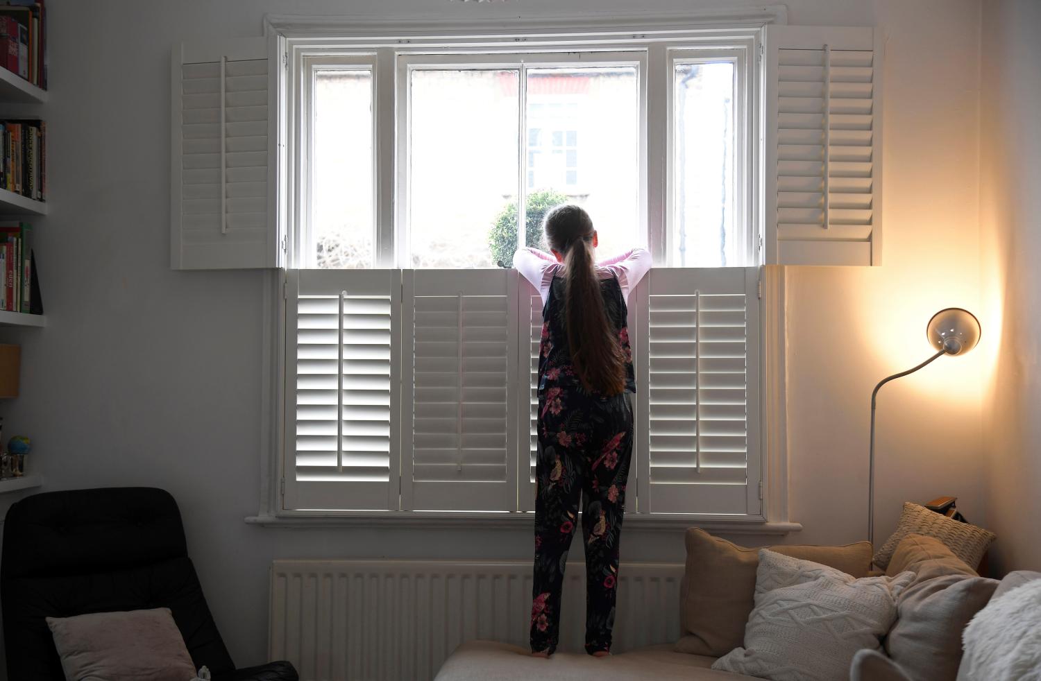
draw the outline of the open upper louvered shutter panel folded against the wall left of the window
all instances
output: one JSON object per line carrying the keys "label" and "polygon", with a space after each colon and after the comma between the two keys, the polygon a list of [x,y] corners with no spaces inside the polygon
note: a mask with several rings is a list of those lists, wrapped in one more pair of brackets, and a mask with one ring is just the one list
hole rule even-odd
{"label": "open upper louvered shutter panel folded against the wall left of the window", "polygon": [[278,266],[276,73],[268,38],[173,55],[171,264]]}

